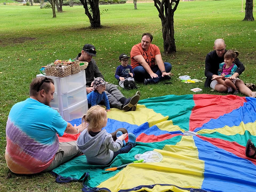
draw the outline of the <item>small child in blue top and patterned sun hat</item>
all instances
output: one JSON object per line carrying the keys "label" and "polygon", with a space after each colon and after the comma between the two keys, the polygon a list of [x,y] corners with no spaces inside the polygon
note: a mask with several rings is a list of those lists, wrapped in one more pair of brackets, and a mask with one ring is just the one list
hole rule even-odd
{"label": "small child in blue top and patterned sun hat", "polygon": [[87,94],[88,107],[98,105],[102,101],[105,103],[107,111],[110,111],[109,99],[105,93],[107,82],[97,77],[93,81],[93,91]]}

